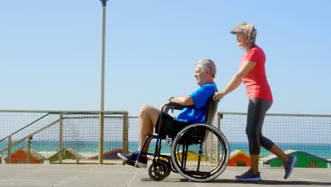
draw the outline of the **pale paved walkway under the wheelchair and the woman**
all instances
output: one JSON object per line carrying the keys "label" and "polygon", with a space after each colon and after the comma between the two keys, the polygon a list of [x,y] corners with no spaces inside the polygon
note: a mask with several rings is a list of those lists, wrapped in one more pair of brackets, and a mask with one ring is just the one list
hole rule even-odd
{"label": "pale paved walkway under the wheelchair and the woman", "polygon": [[227,167],[219,178],[208,183],[187,181],[171,173],[163,181],[152,181],[148,169],[123,165],[96,164],[0,164],[0,187],[96,187],[96,186],[331,186],[331,169],[294,169],[284,180],[284,169],[262,168],[260,182],[240,182],[234,176],[245,167]]}

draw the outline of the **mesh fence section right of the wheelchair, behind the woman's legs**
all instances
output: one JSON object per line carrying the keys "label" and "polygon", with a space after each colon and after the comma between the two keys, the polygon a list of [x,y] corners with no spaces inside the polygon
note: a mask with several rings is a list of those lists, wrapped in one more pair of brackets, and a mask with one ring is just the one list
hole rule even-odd
{"label": "mesh fence section right of the wheelchair, behind the woman's legs", "polygon": [[[230,143],[231,152],[241,150],[249,154],[245,134],[245,113],[220,114],[221,131]],[[267,114],[262,135],[272,140],[286,154],[298,157],[296,166],[329,167],[331,162],[331,115]],[[281,161],[261,148],[264,166],[280,166]],[[320,163],[320,164],[319,164]]]}

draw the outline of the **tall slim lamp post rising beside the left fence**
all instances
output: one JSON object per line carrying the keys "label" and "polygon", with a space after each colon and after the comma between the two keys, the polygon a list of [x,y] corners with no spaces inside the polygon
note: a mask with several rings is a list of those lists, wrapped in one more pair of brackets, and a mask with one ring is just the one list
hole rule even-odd
{"label": "tall slim lamp post rising beside the left fence", "polygon": [[108,0],[100,0],[103,4],[102,33],[101,33],[101,89],[100,89],[100,114],[99,114],[99,157],[98,164],[103,164],[103,130],[105,121],[105,17]]}

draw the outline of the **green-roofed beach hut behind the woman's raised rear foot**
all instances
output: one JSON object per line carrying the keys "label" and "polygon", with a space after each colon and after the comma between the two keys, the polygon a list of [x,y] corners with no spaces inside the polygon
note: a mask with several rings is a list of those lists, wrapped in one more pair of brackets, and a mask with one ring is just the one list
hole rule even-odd
{"label": "green-roofed beach hut behind the woman's raised rear foot", "polygon": [[[301,167],[301,168],[327,168],[330,165],[330,161],[327,159],[323,159],[321,157],[318,157],[314,154],[310,154],[308,152],[301,152],[298,150],[286,150],[286,154],[296,156],[298,158],[296,164],[294,167]],[[262,158],[264,165],[270,166],[270,167],[280,167],[283,166],[283,162],[281,159],[276,157],[274,154]]]}

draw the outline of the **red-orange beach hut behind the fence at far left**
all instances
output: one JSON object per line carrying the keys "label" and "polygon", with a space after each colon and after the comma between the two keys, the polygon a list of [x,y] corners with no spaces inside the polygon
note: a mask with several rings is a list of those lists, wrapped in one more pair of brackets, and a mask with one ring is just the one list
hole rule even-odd
{"label": "red-orange beach hut behind the fence at far left", "polygon": [[[11,154],[11,164],[42,164],[46,158],[42,154],[30,149],[30,160],[28,161],[28,149],[18,149]],[[8,163],[8,157],[5,158]]]}

